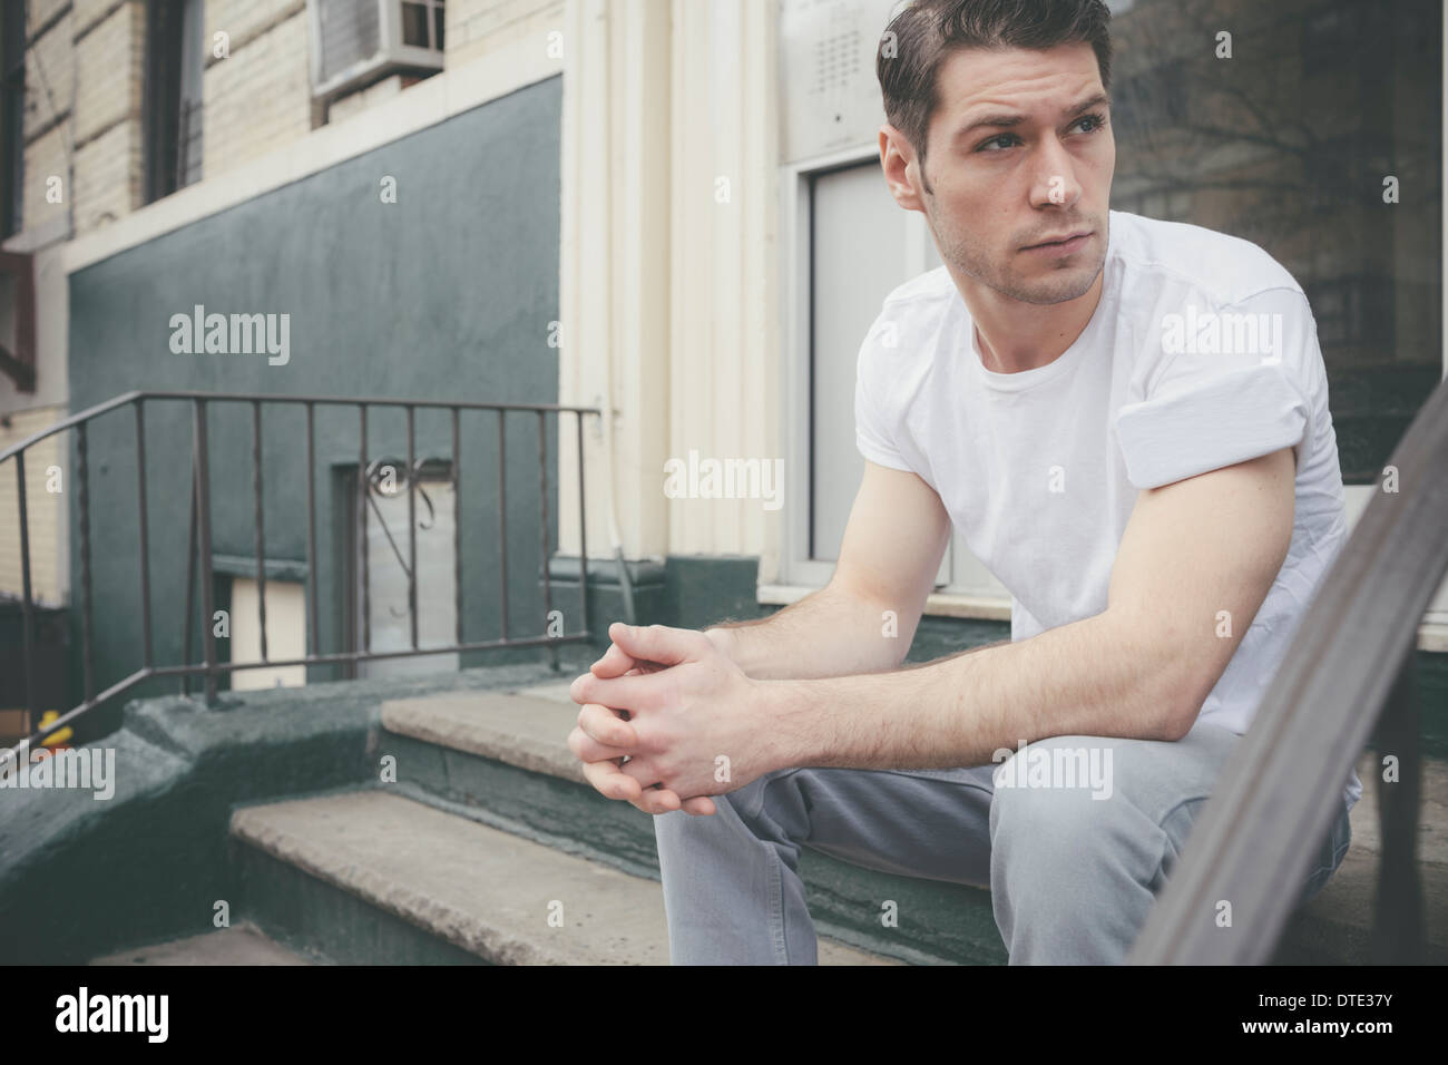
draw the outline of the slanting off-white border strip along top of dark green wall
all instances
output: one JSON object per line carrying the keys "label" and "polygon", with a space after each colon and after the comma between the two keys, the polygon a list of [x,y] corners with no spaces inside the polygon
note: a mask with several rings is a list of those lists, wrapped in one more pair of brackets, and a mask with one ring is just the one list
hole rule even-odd
{"label": "slanting off-white border strip along top of dark green wall", "polygon": [[549,58],[544,36],[540,32],[534,46],[523,41],[434,74],[365,112],[320,126],[214,178],[203,175],[194,185],[85,233],[65,245],[65,274],[562,74],[563,59]]}

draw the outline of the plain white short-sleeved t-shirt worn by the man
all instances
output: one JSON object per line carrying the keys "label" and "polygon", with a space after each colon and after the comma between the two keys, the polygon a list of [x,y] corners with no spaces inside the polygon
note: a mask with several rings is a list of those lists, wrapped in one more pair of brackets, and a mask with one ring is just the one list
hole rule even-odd
{"label": "plain white short-sleeved t-shirt worn by the man", "polygon": [[1254,243],[1115,210],[1108,229],[1095,314],[1035,369],[985,368],[944,267],[892,291],[860,346],[856,442],[940,494],[1011,591],[1012,640],[1106,609],[1138,490],[1292,446],[1287,558],[1197,717],[1241,735],[1347,539],[1316,322]]}

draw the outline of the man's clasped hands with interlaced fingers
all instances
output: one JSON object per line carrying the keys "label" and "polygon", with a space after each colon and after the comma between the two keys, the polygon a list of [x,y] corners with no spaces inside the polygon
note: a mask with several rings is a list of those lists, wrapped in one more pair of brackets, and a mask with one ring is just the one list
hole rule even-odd
{"label": "man's clasped hands with interlaced fingers", "polygon": [[772,768],[762,682],[702,632],[608,627],[608,651],[569,688],[568,749],[602,795],[644,813],[712,814],[714,800]]}

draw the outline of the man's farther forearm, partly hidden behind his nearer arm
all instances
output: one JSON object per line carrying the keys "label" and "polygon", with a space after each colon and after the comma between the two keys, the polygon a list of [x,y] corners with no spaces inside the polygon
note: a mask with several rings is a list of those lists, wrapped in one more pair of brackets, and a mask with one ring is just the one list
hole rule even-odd
{"label": "man's farther forearm, partly hidden behind his nearer arm", "polygon": [[914,632],[889,635],[892,626],[882,610],[833,584],[769,617],[720,622],[705,632],[754,680],[893,669],[914,636]]}

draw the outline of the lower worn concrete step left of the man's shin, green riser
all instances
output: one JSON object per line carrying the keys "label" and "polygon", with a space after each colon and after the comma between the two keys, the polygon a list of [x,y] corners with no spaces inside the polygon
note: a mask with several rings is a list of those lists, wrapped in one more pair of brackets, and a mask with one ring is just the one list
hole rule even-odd
{"label": "lower worn concrete step left of the man's shin, green riser", "polygon": [[[668,964],[656,881],[388,787],[237,809],[248,917],[339,964]],[[820,961],[891,964],[831,942]]]}

